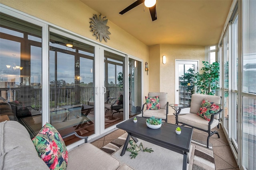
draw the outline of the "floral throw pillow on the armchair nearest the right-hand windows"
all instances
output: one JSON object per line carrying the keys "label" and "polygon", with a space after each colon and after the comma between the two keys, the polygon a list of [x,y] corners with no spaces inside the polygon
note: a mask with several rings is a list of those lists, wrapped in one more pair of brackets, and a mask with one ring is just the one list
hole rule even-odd
{"label": "floral throw pillow on the armchair nearest the right-hand windows", "polygon": [[197,113],[198,116],[203,117],[206,121],[210,121],[212,114],[220,110],[220,104],[204,99]]}

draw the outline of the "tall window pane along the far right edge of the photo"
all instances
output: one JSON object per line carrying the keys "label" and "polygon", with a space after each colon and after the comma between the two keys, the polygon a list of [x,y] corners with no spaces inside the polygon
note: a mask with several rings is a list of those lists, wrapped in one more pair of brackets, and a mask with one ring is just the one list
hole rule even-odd
{"label": "tall window pane along the far right edge of the photo", "polygon": [[242,166],[256,169],[256,1],[243,2]]}

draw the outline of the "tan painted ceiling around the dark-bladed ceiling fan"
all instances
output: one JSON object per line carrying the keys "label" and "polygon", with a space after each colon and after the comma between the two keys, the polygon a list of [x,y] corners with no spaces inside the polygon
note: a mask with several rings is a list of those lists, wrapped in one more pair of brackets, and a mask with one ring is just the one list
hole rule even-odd
{"label": "tan painted ceiling around the dark-bladed ceiling fan", "polygon": [[152,22],[148,8],[144,12],[144,3],[119,14],[135,1],[81,0],[149,46],[217,44],[232,3],[232,0],[157,0],[157,20]]}

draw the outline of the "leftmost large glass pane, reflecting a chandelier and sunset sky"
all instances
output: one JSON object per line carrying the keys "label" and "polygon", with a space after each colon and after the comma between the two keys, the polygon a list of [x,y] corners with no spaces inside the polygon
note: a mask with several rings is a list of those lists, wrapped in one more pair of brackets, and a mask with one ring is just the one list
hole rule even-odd
{"label": "leftmost large glass pane, reflecting a chandelier and sunset sky", "polygon": [[33,138],[42,128],[42,28],[2,13],[0,97]]}

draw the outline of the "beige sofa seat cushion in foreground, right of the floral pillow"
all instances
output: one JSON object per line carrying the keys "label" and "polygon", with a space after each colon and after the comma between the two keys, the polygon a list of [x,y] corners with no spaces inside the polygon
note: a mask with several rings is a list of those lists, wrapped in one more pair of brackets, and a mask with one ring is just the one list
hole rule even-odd
{"label": "beige sofa seat cushion in foreground, right of the floral pillow", "polygon": [[68,169],[116,170],[119,166],[120,162],[116,158],[90,143],[85,143],[68,152]]}

